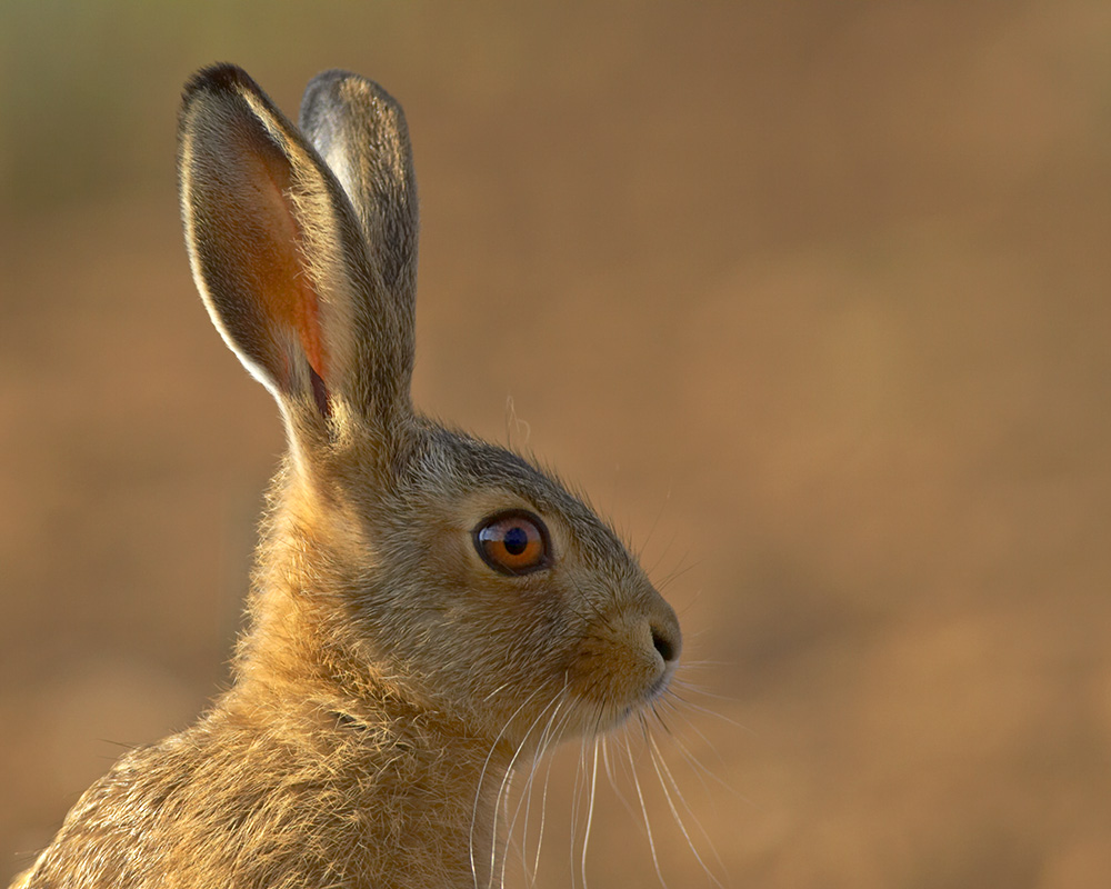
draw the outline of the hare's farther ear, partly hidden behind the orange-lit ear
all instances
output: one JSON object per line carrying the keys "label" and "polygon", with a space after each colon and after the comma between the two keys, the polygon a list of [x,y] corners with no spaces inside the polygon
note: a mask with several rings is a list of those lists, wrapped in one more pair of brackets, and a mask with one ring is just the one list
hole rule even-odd
{"label": "hare's farther ear, partly hidden behind the orange-lit ear", "polygon": [[411,312],[417,177],[401,106],[371,80],[326,71],[304,91],[300,126],[343,186],[383,283]]}

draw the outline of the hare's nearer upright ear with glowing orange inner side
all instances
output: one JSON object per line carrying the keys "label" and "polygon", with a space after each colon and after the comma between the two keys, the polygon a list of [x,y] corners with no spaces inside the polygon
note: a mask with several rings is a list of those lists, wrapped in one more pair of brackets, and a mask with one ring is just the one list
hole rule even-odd
{"label": "hare's nearer upright ear with glowing orange inner side", "polygon": [[410,416],[411,306],[398,310],[316,149],[233,66],[189,82],[178,136],[198,290],[294,439],[326,434],[337,408],[387,426]]}

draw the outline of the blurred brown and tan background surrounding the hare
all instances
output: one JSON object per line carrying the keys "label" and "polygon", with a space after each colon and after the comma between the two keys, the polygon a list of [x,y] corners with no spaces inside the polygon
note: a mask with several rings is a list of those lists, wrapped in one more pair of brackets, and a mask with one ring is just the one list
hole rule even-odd
{"label": "blurred brown and tan background surrounding the hare", "polygon": [[[227,678],[282,441],[181,244],[217,60],[290,113],[331,67],[404,104],[417,400],[504,441],[511,397],[674,576],[717,716],[661,742],[714,873],[1105,885],[1100,0],[0,4],[0,879]],[[708,883],[645,792],[668,883]],[[658,885],[608,788],[588,876]]]}

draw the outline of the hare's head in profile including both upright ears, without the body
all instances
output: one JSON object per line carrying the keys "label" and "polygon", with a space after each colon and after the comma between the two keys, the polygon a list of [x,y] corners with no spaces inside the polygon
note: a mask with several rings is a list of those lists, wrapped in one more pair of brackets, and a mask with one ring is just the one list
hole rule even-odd
{"label": "hare's head in profile including both upright ears, without the body", "polygon": [[517,750],[660,695],[679,625],[614,532],[551,473],[412,407],[398,103],[331,71],[294,127],[240,69],[206,69],[179,164],[197,286],[289,440],[239,682],[311,682],[352,718],[384,695]]}

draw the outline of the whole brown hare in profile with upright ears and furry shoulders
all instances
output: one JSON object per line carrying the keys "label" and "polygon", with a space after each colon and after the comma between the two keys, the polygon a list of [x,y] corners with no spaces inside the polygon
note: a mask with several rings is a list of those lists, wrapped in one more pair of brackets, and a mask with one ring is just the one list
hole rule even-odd
{"label": "whole brown hare in profile with upright ears and furry shoulders", "polygon": [[663,693],[675,615],[551,475],[413,410],[417,187],[390,96],[329,71],[298,128],[216,66],[179,144],[197,288],[289,452],[230,689],[120,759],[14,886],[496,883],[509,775]]}

